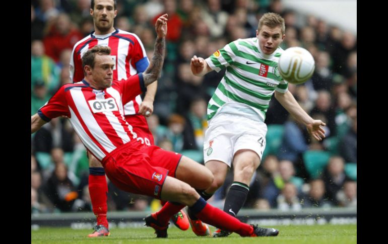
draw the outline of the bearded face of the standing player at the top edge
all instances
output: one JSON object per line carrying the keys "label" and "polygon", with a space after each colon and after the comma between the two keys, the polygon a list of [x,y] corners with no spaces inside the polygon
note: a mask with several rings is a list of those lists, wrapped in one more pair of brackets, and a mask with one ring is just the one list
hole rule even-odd
{"label": "bearded face of the standing player at the top edge", "polygon": [[90,10],[90,15],[93,16],[97,34],[106,34],[113,30],[113,19],[117,15],[113,0],[95,0],[94,9]]}

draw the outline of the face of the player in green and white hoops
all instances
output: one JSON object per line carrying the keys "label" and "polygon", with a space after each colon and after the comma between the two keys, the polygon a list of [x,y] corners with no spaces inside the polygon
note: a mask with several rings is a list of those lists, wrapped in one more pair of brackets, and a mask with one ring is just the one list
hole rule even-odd
{"label": "face of the player in green and white hoops", "polygon": [[282,35],[282,29],[280,26],[270,28],[264,25],[262,26],[260,32],[256,30],[256,37],[258,39],[260,49],[264,52],[264,54],[270,55],[273,54],[279,47],[285,35]]}

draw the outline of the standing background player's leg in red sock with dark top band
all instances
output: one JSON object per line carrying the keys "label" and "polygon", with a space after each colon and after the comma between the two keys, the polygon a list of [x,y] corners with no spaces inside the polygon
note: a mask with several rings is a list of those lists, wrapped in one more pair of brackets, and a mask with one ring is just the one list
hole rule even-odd
{"label": "standing background player's leg in red sock with dark top band", "polygon": [[108,185],[106,183],[105,171],[101,162],[93,156],[88,150],[89,158],[89,192],[92,202],[93,213],[97,218],[97,225],[93,228],[93,233],[89,237],[108,236],[110,234],[108,228],[108,220],[106,217],[107,192]]}

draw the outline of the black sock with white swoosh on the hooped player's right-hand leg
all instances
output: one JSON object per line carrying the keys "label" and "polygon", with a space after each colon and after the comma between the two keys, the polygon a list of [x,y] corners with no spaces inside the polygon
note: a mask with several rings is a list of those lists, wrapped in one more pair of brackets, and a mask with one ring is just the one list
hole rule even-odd
{"label": "black sock with white swoosh on the hooped player's right-hand leg", "polygon": [[236,217],[238,211],[240,211],[245,203],[248,192],[249,187],[247,185],[241,182],[233,182],[226,195],[224,212]]}

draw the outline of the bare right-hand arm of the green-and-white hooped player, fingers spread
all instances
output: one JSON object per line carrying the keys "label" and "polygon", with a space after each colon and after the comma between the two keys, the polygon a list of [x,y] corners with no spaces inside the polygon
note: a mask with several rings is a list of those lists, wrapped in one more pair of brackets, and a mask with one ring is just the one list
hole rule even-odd
{"label": "bare right-hand arm of the green-and-white hooped player, fingers spread", "polygon": [[275,98],[279,103],[299,122],[307,127],[308,133],[312,135],[318,141],[325,138],[325,130],[321,126],[326,124],[321,120],[312,119],[298,104],[294,96],[287,91],[286,93],[280,93],[275,91]]}

